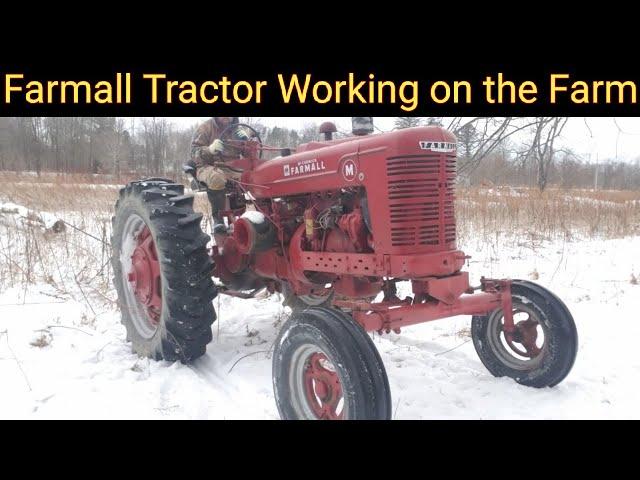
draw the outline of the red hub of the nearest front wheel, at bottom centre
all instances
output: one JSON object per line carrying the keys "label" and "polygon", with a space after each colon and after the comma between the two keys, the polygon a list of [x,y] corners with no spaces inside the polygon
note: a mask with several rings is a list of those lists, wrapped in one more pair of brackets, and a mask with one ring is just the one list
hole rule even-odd
{"label": "red hub of the nearest front wheel, at bottom centre", "polygon": [[342,420],[344,405],[338,413],[340,400],[343,399],[342,384],[338,374],[327,368],[328,364],[329,360],[322,353],[314,353],[309,357],[304,372],[307,402],[319,419]]}

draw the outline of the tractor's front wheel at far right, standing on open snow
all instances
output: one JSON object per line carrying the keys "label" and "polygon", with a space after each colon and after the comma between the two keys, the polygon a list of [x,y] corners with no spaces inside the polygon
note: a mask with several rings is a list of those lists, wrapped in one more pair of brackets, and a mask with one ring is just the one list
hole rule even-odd
{"label": "tractor's front wheel at far right, standing on open snow", "polygon": [[504,313],[474,316],[471,336],[482,363],[496,377],[545,388],[559,384],[571,371],[578,352],[578,332],[565,304],[550,291],[514,280],[516,331],[504,332]]}

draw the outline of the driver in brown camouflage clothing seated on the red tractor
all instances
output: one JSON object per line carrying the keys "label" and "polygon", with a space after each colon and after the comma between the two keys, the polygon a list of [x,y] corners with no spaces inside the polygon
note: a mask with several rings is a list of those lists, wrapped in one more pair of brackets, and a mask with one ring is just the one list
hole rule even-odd
{"label": "driver in brown camouflage clothing seated on the red tractor", "polygon": [[240,157],[237,148],[225,145],[220,138],[225,131],[228,140],[249,140],[249,134],[241,127],[230,128],[239,123],[237,117],[213,117],[196,130],[191,141],[191,159],[196,165],[198,181],[207,186],[207,194],[213,210],[214,231],[226,231],[221,212],[225,208],[225,187],[230,180],[239,180],[241,172],[226,165]]}

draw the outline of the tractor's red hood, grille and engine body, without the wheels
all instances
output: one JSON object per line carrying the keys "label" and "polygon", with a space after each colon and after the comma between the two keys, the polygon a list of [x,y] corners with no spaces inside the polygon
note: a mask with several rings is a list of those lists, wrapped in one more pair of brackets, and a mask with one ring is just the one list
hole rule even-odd
{"label": "tractor's red hood, grille and engine body, without the wheels", "polygon": [[448,278],[418,294],[459,296],[468,278],[455,169],[456,139],[437,127],[312,142],[257,162],[242,177],[255,208],[233,212],[233,233],[216,237],[216,276],[235,290],[286,282],[297,295],[367,300],[390,280]]}

